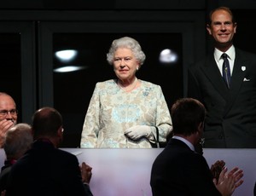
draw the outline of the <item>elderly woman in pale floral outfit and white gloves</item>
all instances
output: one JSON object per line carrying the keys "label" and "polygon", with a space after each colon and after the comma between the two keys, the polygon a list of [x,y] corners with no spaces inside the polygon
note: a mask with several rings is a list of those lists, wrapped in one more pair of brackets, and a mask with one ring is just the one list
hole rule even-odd
{"label": "elderly woman in pale floral outfit and white gloves", "polygon": [[117,78],[96,84],[80,147],[150,148],[166,141],[172,120],[159,85],[136,77],[146,56],[131,37],[113,40],[107,61]]}

